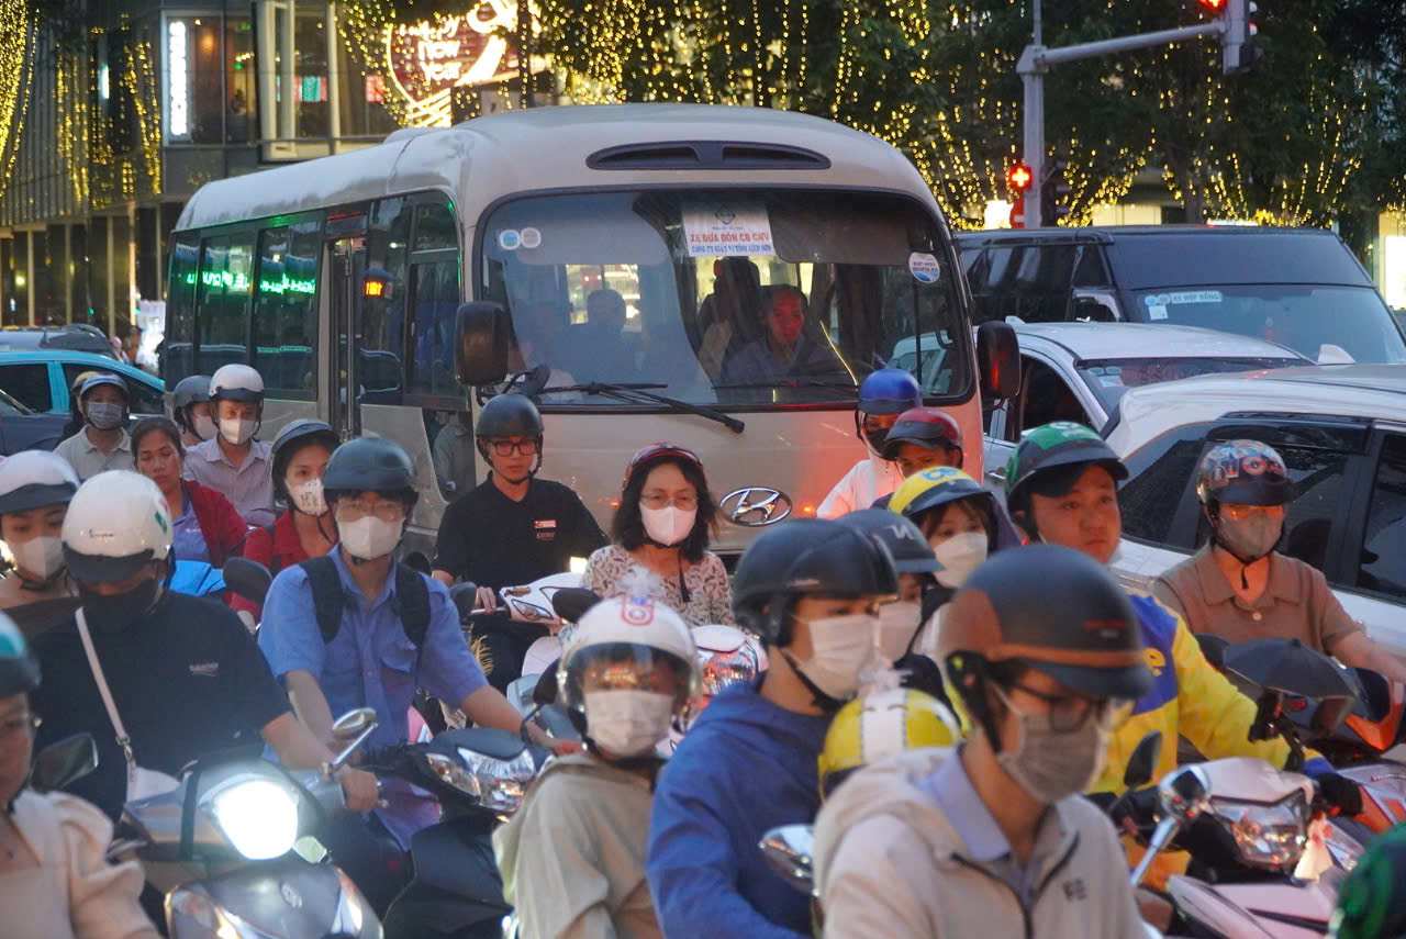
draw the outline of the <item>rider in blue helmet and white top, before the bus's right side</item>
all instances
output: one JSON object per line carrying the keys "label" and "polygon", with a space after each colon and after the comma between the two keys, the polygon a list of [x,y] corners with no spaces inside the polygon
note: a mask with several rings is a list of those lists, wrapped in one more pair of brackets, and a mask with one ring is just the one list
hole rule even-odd
{"label": "rider in blue helmet and white top, before the bus's right side", "polygon": [[815,510],[820,519],[838,519],[856,509],[868,509],[903,482],[898,467],[883,455],[884,437],[898,415],[922,405],[922,387],[903,368],[879,368],[859,382],[855,405],[855,434],[868,455],[849,468]]}

